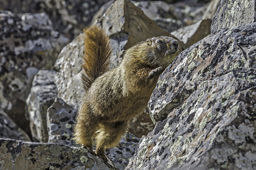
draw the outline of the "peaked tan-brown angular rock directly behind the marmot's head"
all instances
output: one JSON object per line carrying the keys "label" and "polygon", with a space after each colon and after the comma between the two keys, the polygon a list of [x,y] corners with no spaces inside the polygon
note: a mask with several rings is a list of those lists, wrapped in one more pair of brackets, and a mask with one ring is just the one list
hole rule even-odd
{"label": "peaked tan-brown angular rock directly behind the marmot's head", "polygon": [[[124,43],[124,49],[153,36],[170,35],[152,22],[140,8],[126,0],[117,0],[111,4],[95,24],[101,26],[111,39],[116,40],[123,37],[122,41],[124,39],[127,41]],[[174,38],[176,39],[176,37]],[[180,42],[180,46],[183,46],[182,42]],[[113,53],[115,53],[115,50]]]}

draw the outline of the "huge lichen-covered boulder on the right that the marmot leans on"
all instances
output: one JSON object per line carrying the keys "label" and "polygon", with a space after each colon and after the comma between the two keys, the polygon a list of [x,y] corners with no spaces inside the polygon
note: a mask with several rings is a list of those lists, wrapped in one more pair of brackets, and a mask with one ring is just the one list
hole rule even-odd
{"label": "huge lichen-covered boulder on the right that the marmot leans on", "polygon": [[162,121],[140,139],[126,169],[255,169],[255,43],[252,23],[178,55],[149,102],[153,120]]}

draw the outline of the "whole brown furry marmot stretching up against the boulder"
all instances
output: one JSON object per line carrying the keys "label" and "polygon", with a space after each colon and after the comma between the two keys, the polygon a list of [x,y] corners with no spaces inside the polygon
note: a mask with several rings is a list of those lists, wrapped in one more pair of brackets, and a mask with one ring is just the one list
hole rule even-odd
{"label": "whole brown furry marmot stretching up against the boulder", "polygon": [[127,49],[122,63],[106,71],[111,54],[109,42],[98,26],[84,29],[85,94],[73,139],[93,152],[92,137],[95,137],[96,154],[103,161],[107,161],[105,149],[116,146],[130,121],[147,107],[159,75],[172,63],[179,49],[178,41],[171,37],[153,37]]}

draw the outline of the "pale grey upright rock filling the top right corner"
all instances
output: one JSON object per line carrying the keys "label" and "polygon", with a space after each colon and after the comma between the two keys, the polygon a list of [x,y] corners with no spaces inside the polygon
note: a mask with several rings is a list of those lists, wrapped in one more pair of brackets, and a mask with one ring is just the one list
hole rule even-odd
{"label": "pale grey upright rock filling the top right corner", "polygon": [[255,22],[254,0],[221,0],[212,19],[211,33]]}

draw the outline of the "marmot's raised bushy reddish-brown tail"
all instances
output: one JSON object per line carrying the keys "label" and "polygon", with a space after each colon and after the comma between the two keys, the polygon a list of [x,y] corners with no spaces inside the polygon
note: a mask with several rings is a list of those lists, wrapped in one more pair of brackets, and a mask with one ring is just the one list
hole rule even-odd
{"label": "marmot's raised bushy reddish-brown tail", "polygon": [[98,26],[84,28],[84,72],[82,82],[87,91],[92,82],[103,74],[109,64],[109,55],[112,50],[106,33]]}

